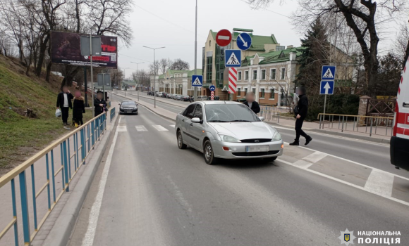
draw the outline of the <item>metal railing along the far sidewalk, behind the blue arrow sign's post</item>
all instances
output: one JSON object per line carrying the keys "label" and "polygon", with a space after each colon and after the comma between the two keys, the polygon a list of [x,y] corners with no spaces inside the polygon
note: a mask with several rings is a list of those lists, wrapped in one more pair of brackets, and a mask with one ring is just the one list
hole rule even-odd
{"label": "metal railing along the far sidewalk, behind the blue arrow sign's post", "polygon": [[[328,118],[328,119],[327,119]],[[361,115],[336,115],[319,113],[319,129],[338,129],[365,134],[392,136],[393,118]],[[326,120],[327,119],[327,120]],[[335,127],[334,127],[335,123]],[[337,127],[338,125],[338,127]]]}

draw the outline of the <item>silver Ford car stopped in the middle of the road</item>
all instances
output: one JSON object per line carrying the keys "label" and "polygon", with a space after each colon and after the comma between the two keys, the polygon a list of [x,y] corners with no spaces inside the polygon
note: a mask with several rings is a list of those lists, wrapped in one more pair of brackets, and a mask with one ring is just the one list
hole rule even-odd
{"label": "silver Ford car stopped in the middle of the road", "polygon": [[190,103],[176,117],[178,147],[203,153],[207,164],[221,159],[263,158],[283,154],[279,131],[263,122],[250,108],[231,101]]}

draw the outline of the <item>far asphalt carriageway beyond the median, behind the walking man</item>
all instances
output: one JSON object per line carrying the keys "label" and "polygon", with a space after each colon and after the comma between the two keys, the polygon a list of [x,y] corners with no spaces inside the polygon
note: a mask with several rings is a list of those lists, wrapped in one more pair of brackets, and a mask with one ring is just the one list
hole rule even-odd
{"label": "far asphalt carriageway beyond the median, behind the walking man", "polygon": [[[152,103],[153,97],[140,97],[140,100]],[[169,100],[170,102],[174,101],[171,99],[166,100]],[[188,102],[183,103],[185,103],[186,105],[189,104]],[[181,110],[183,110],[183,108],[181,107],[166,103],[159,103],[158,101],[157,106],[165,108],[166,110],[170,110],[171,112],[181,112]],[[280,127],[278,125],[275,126],[279,129],[284,141],[288,143],[294,141],[294,129]],[[397,174],[409,178],[409,171],[398,170],[391,165],[389,145],[387,144],[362,141],[352,138],[343,138],[340,136],[333,136],[328,134],[318,134],[315,132],[310,132],[308,134],[312,136],[313,141],[310,143],[310,145],[305,146],[306,148],[318,150],[323,153],[342,157],[353,162],[366,164],[370,167],[375,167],[377,169],[388,171],[392,174]],[[301,139],[300,144],[304,145],[304,143],[304,139]]]}

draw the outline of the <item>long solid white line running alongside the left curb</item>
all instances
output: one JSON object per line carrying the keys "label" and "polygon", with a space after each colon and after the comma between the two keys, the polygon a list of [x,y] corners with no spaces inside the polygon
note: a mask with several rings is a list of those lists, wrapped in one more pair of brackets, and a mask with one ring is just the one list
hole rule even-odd
{"label": "long solid white line running alongside the left curb", "polygon": [[101,210],[102,198],[104,197],[104,190],[106,186],[106,179],[108,179],[109,167],[111,167],[112,155],[114,155],[114,148],[117,138],[118,131],[115,133],[114,140],[111,143],[111,148],[109,148],[109,153],[108,156],[106,157],[104,170],[102,170],[101,180],[99,181],[98,186],[98,193],[97,196],[95,197],[94,204],[92,204],[90,217],[88,218],[87,232],[85,233],[83,239],[83,246],[92,246],[94,244],[94,237],[95,231],[97,231],[99,211]]}

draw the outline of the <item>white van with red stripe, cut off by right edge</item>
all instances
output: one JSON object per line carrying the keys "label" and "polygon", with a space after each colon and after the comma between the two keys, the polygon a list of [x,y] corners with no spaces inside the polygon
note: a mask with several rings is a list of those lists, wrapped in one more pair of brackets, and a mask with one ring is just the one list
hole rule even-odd
{"label": "white van with red stripe, cut off by right edge", "polygon": [[409,171],[409,59],[406,61],[396,98],[391,163],[396,168]]}

